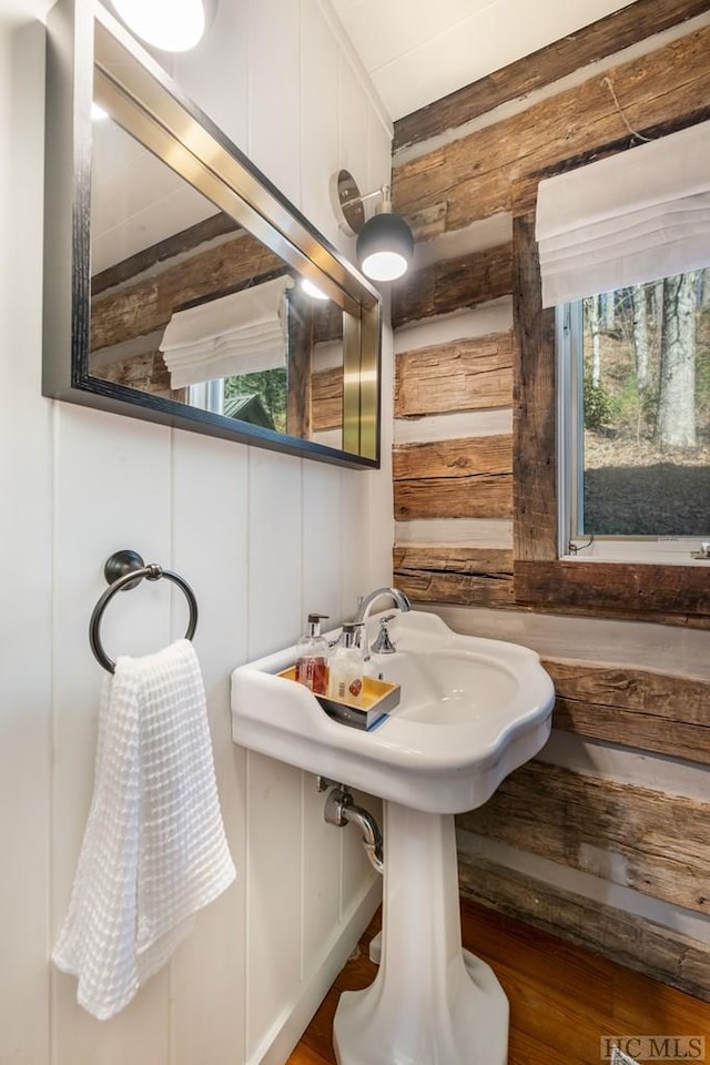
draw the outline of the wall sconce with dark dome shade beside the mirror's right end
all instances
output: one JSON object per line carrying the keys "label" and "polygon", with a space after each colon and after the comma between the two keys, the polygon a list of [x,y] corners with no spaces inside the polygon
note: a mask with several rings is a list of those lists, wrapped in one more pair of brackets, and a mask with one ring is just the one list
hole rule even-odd
{"label": "wall sconce with dark dome shade beside the mirror's right end", "polygon": [[[414,237],[402,215],[392,210],[389,185],[363,196],[349,171],[341,170],[333,191],[341,229],[357,234],[355,252],[365,276],[373,281],[402,277],[412,262]],[[363,203],[374,196],[382,196],[382,203],[372,219],[365,222]]]}

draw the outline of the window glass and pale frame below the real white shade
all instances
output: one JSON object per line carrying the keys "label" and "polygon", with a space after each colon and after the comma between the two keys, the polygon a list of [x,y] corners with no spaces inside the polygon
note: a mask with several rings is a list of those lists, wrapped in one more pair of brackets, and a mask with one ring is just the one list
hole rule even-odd
{"label": "window glass and pale frame below the real white shade", "polygon": [[710,268],[557,312],[561,556],[691,560],[710,540]]}

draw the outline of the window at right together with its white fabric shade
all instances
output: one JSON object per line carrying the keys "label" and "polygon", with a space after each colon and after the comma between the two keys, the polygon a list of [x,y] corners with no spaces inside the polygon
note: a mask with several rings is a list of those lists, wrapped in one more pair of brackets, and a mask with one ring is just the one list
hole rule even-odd
{"label": "window at right together with its white fabric shade", "polygon": [[561,353],[558,557],[703,565],[709,161],[703,122],[539,183],[541,307],[557,308]]}

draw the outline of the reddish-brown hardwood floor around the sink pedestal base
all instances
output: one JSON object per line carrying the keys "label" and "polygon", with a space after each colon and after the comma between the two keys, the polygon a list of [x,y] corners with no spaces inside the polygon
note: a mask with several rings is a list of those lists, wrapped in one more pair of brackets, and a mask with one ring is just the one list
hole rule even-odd
{"label": "reddish-brown hardwood floor around the sink pedestal base", "polygon": [[[377,914],[288,1065],[334,1065],[337,1000],[374,980],[377,966],[367,949],[379,920]],[[702,1035],[710,1055],[710,1003],[468,901],[462,902],[462,932],[464,945],[488,962],[510,1001],[509,1065],[602,1065],[604,1036]]]}

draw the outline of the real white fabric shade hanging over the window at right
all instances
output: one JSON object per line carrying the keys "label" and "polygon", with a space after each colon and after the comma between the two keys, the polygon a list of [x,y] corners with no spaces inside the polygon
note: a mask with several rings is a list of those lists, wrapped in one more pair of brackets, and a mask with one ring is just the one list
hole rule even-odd
{"label": "real white fabric shade hanging over the window at right", "polygon": [[710,263],[710,122],[540,182],[542,306]]}

